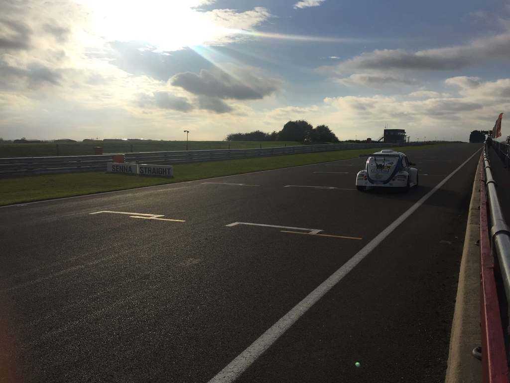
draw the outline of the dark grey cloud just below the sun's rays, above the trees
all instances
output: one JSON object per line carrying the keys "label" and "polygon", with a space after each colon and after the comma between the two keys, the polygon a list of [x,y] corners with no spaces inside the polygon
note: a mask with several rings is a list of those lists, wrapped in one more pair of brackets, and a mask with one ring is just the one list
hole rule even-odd
{"label": "dark grey cloud just below the sun's rays, above the trees", "polygon": [[179,73],[170,79],[190,93],[232,100],[259,100],[278,89],[278,82],[264,79],[243,71],[243,77],[235,78],[220,69],[200,70],[199,74]]}

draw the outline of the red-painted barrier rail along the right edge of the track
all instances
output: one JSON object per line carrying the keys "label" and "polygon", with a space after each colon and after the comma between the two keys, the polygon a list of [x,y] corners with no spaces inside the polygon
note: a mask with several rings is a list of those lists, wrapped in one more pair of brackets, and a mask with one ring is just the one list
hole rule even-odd
{"label": "red-painted barrier rail along the right edge of the track", "polygon": [[[483,383],[508,383],[508,364],[503,325],[496,290],[491,236],[489,236],[489,212],[491,212],[491,218],[493,216],[487,198],[489,197],[490,200],[492,197],[494,200],[495,190],[490,189],[495,185],[490,174],[491,170],[485,150],[480,161],[480,327],[482,340],[482,381]],[[488,177],[486,173],[488,173]],[[491,196],[492,192],[494,192],[494,195]],[[494,229],[494,221],[492,222]],[[496,234],[493,230],[491,230],[491,233],[493,235]]]}

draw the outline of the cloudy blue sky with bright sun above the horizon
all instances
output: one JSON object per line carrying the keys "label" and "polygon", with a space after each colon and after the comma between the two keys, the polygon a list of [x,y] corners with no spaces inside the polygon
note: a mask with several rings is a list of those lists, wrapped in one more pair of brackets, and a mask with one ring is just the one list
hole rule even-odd
{"label": "cloudy blue sky with bright sun above the horizon", "polygon": [[[0,137],[467,140],[510,106],[510,2],[0,0]],[[503,136],[510,134],[505,129]],[[510,126],[510,125],[508,125]]]}

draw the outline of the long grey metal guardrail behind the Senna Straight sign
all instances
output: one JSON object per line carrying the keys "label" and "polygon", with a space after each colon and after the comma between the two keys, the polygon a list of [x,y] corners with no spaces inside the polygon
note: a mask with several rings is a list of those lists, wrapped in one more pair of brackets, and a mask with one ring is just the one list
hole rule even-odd
{"label": "long grey metal guardrail behind the Senna Straight sign", "polygon": [[[414,142],[405,145],[426,145]],[[302,145],[264,149],[219,149],[190,150],[171,152],[125,153],[126,162],[151,164],[176,164],[190,162],[219,161],[227,159],[267,157],[285,154],[315,153],[348,149],[371,149],[398,147],[391,143],[338,143],[327,145]],[[61,157],[13,157],[0,158],[0,175],[66,173],[82,171],[106,171],[106,164],[112,162],[112,156],[118,153],[90,156]]]}

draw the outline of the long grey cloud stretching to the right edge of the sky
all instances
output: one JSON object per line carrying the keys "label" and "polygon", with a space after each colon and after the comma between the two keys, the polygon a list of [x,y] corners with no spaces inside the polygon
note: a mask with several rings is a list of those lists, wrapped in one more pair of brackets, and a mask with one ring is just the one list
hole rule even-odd
{"label": "long grey cloud stretching to the right edge of the sky", "polygon": [[336,74],[360,69],[457,70],[493,60],[510,61],[510,33],[480,38],[464,45],[417,52],[402,49],[375,50],[318,70]]}

